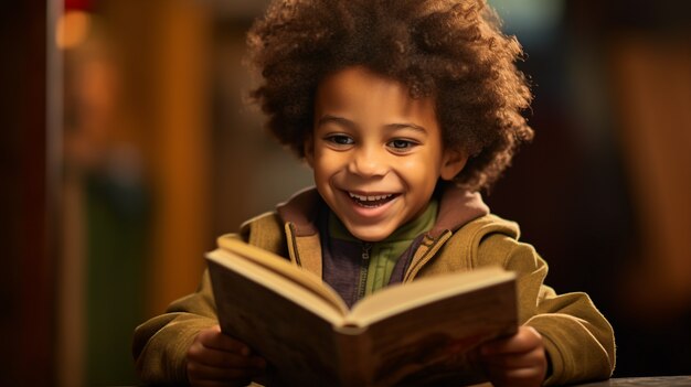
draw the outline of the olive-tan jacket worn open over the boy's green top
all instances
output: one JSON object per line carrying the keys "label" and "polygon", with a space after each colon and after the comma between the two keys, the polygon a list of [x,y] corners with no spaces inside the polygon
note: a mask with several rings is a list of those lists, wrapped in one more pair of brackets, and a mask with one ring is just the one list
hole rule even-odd
{"label": "olive-tan jacket worn open over the boy's green top", "polygon": [[[240,234],[224,237],[242,238],[289,257],[295,265],[321,276],[319,233],[310,221],[316,197],[313,191],[304,192],[294,197],[291,205],[249,219]],[[450,208],[443,198],[437,225],[448,224],[444,222],[445,207]],[[515,223],[480,213],[458,229],[435,226],[415,251],[403,281],[488,265],[499,265],[518,275],[519,321],[540,332],[550,357],[551,374],[545,384],[605,379],[612,375],[612,326],[587,294],[557,295],[543,283],[548,266],[532,246],[519,241]],[[200,330],[216,323],[205,272],[198,292],[171,303],[166,314],[137,327],[132,350],[142,380],[185,383],[187,350]]]}

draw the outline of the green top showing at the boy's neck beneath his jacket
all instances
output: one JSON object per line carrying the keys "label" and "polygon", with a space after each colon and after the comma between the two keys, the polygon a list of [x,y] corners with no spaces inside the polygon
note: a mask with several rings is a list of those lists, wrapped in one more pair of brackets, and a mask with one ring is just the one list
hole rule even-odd
{"label": "green top showing at the boy's neck beneath his jacket", "polygon": [[[386,239],[371,245],[365,295],[389,284],[398,258],[418,235],[429,230],[436,222],[437,208],[437,201],[429,201],[427,208],[418,217],[393,232]],[[329,234],[332,238],[361,243],[348,232],[337,216],[329,216]]]}

